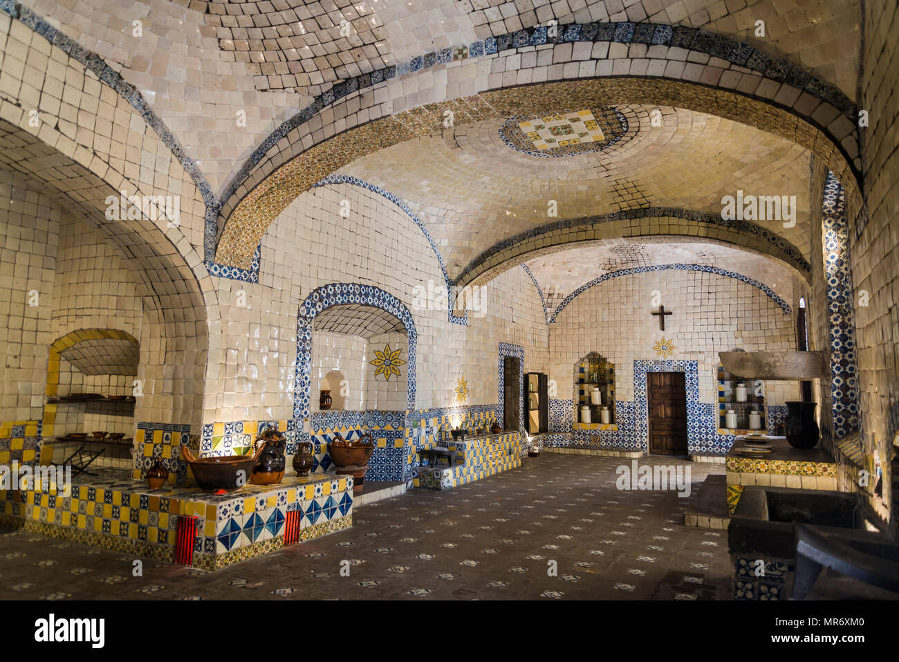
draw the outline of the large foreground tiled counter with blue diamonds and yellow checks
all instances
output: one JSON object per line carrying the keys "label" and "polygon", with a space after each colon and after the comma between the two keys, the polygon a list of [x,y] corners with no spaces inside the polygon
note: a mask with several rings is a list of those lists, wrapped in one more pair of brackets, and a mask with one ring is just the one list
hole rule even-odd
{"label": "large foreground tiled counter with blue diamonds and yellow checks", "polygon": [[[195,518],[192,553],[180,559],[215,570],[285,544],[352,526],[352,477],[285,477],[279,485],[246,485],[211,495],[199,488],[149,490],[129,471],[101,470],[73,481],[71,495],[0,491],[0,520],[67,540],[175,562],[178,522]],[[185,533],[186,532],[186,533]]]}

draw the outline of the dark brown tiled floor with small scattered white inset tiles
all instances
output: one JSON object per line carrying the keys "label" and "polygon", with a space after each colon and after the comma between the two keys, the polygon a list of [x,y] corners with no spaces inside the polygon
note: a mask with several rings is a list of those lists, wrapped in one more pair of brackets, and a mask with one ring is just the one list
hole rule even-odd
{"label": "dark brown tiled floor with small scattered white inset tiles", "polygon": [[[728,598],[726,532],[684,527],[676,492],[619,491],[621,463],[544,455],[451,491],[413,489],[360,507],[350,530],[215,573],[144,559],[132,577],[119,552],[7,532],[0,598]],[[694,492],[720,470],[690,467]]]}

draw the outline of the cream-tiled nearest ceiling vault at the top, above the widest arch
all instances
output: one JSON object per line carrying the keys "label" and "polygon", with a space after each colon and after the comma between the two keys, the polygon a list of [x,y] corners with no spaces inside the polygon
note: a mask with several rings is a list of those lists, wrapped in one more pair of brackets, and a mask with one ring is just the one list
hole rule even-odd
{"label": "cream-tiled nearest ceiling vault at the top, above the widest arch", "polygon": [[[410,58],[549,21],[731,36],[856,95],[858,0],[24,0],[135,85],[220,192],[316,94]],[[757,37],[756,22],[765,22]],[[341,32],[342,22],[344,31]],[[349,36],[345,26],[352,26]],[[243,115],[245,126],[236,124]]]}

